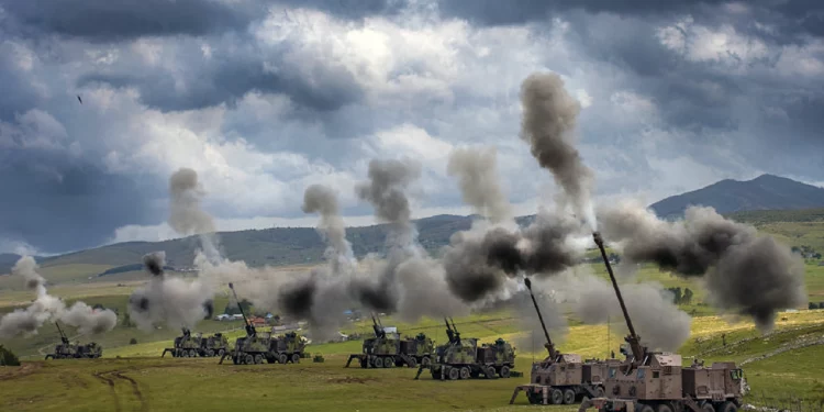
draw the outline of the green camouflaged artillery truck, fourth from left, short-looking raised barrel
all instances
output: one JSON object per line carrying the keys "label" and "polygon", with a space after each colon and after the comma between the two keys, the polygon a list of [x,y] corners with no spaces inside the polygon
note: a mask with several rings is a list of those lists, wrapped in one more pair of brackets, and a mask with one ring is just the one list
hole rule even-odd
{"label": "green camouflaged artillery truck, fourth from left, short-looking raised barrel", "polygon": [[375,337],[364,339],[361,353],[349,355],[346,368],[357,359],[361,368],[391,368],[403,365],[414,368],[417,365],[428,366],[432,358],[433,343],[425,334],[401,339],[399,335],[387,335],[383,325],[372,314]]}

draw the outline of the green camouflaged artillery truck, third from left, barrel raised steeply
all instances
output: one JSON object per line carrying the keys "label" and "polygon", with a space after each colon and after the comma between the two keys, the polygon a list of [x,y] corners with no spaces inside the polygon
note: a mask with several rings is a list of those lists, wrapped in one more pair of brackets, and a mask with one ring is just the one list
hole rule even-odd
{"label": "green camouflaged artillery truck, third from left, barrel raised steeply", "polygon": [[[229,283],[229,288],[232,289],[232,293],[237,299],[234,286]],[[266,360],[269,364],[274,363],[293,363],[300,361],[305,348],[305,338],[298,335],[294,332],[287,333],[280,337],[272,337],[271,333],[261,333],[258,335],[255,326],[246,318],[246,313],[243,311],[243,307],[237,304],[243,316],[243,322],[246,329],[246,336],[241,336],[235,341],[235,347],[232,352],[225,352],[221,356],[219,364],[223,364],[223,359],[226,356],[232,357],[232,363],[235,365],[258,365]]]}

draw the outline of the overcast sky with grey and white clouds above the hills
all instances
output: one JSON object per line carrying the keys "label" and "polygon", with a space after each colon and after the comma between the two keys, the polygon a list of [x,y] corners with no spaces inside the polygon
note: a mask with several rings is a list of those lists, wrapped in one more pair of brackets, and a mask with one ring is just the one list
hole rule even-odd
{"label": "overcast sky with grey and white clouds above the hills", "polygon": [[416,218],[468,214],[460,145],[495,146],[533,213],[556,191],[519,138],[536,70],[584,108],[602,201],[824,181],[820,1],[0,0],[0,252],[172,237],[180,167],[219,230],[313,225],[314,182],[370,224],[375,157],[423,163]]}

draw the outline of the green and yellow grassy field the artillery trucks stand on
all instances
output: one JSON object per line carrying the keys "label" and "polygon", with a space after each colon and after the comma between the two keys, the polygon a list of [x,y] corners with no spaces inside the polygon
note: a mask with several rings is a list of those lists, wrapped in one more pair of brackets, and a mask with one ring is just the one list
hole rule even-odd
{"label": "green and yellow grassy field the artillery trucks stand on", "polygon": [[[803,336],[824,335],[824,311],[800,311],[780,315],[776,331],[762,338],[753,324],[728,324],[715,316],[694,320],[692,337],[681,353],[702,354],[708,361],[746,360],[769,353]],[[387,319],[387,322],[391,322]],[[464,336],[492,341],[515,338],[513,322],[505,312],[456,319]],[[392,323],[394,324],[394,323]],[[366,330],[356,324],[353,330]],[[404,329],[408,333],[438,329],[425,320]],[[722,334],[726,334],[726,346]],[[443,331],[441,331],[443,335]],[[617,345],[620,336],[612,336]],[[561,350],[587,357],[603,357],[605,325],[570,327]],[[747,341],[749,339],[749,341]],[[539,347],[539,342],[537,343]],[[147,344],[146,344],[147,345]],[[519,398],[509,399],[516,385],[528,378],[495,380],[434,381],[427,374],[413,380],[416,369],[343,368],[349,353],[359,352],[359,342],[310,345],[311,353],[324,353],[325,363],[308,360],[299,365],[218,365],[218,359],[159,358],[162,346],[131,345],[107,352],[96,360],[26,361],[21,368],[0,369],[0,410],[9,411],[132,411],[132,410],[233,410],[268,408],[301,411],[519,411],[534,410]],[[541,352],[517,350],[516,370],[527,371]],[[111,358],[120,356],[121,358]],[[684,363],[689,363],[688,359]],[[822,380],[824,346],[790,350],[751,361],[745,374],[753,393],[814,394]],[[776,379],[779,378],[780,379]],[[35,389],[36,388],[36,389]],[[549,407],[558,411],[576,408]]]}

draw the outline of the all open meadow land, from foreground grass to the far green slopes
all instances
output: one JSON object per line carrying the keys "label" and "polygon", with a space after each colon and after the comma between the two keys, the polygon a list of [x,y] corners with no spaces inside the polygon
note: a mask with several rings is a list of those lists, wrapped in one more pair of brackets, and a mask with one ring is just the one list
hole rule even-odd
{"label": "all open meadow land, from foreground grass to the far green slopes", "polygon": [[[765,232],[792,246],[824,249],[816,221],[792,224],[775,222],[782,216],[757,215],[754,223]],[[769,219],[768,219],[769,218]],[[772,220],[770,220],[772,219]],[[592,254],[590,254],[592,255]],[[601,264],[584,265],[586,270],[605,278]],[[232,410],[291,409],[301,411],[515,411],[530,410],[523,394],[509,405],[516,385],[528,381],[530,365],[543,358],[541,331],[525,332],[523,323],[510,310],[475,313],[455,319],[464,337],[492,342],[498,337],[516,346],[515,370],[524,377],[493,380],[433,381],[424,371],[414,380],[416,369],[344,368],[348,354],[361,350],[361,341],[312,343],[308,352],[322,354],[324,363],[302,359],[298,365],[235,366],[218,365],[216,358],[160,358],[165,347],[180,334],[178,330],[158,329],[143,332],[126,319],[129,294],[146,280],[140,271],[110,277],[93,277],[107,270],[105,265],[70,264],[41,269],[49,283],[49,293],[71,303],[82,299],[90,305],[100,304],[118,313],[118,326],[98,336],[67,334],[81,343],[96,341],[103,346],[103,357],[93,360],[42,360],[59,342],[56,329],[44,325],[38,334],[2,342],[23,361],[22,367],[0,368],[0,410],[2,411],[148,411],[148,410]],[[285,271],[305,269],[283,267]],[[824,303],[824,266],[819,261],[805,265],[805,285],[811,302]],[[684,280],[642,267],[622,282],[655,281],[665,288],[689,288],[690,301],[679,308],[692,316],[691,336],[680,348],[684,364],[693,356],[713,360],[735,360],[743,365],[751,388],[746,401],[754,404],[779,405],[798,398],[806,402],[824,401],[824,310],[788,311],[779,314],[772,333],[762,336],[751,322],[719,316],[705,303],[704,288],[699,281]],[[225,292],[225,291],[224,291]],[[0,277],[0,313],[30,302],[32,296],[22,290],[19,280]],[[225,293],[214,301],[215,313],[229,303]],[[346,334],[371,333],[368,318],[342,330]],[[610,350],[619,353],[623,319],[608,325],[584,325],[567,314],[568,332],[554,336],[559,349],[583,357],[605,358]],[[436,342],[446,341],[441,320],[424,319],[415,324],[397,322],[383,316],[385,325],[398,326],[404,335],[427,334]],[[224,332],[231,345],[241,336],[242,322],[201,321],[194,332]],[[546,407],[553,410],[576,410],[569,407]]]}

